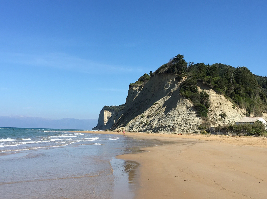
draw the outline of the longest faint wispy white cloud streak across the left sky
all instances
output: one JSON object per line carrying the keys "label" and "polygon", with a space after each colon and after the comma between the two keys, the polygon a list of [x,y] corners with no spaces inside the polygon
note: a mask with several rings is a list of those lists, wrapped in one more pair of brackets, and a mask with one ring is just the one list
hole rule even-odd
{"label": "longest faint wispy white cloud streak across the left sky", "polygon": [[99,73],[99,72],[142,72],[142,69],[136,69],[128,66],[109,65],[97,61],[83,59],[71,56],[65,53],[50,53],[45,55],[34,55],[25,53],[3,53],[0,57],[0,63],[31,65],[36,67],[52,67],[63,70],[78,71],[81,73]]}

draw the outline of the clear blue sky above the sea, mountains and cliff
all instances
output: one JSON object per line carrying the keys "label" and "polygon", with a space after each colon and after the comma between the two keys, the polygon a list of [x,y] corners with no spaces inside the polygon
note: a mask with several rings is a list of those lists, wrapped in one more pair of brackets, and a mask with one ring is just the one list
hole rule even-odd
{"label": "clear blue sky above the sea, mountains and cliff", "polygon": [[0,116],[97,119],[178,54],[267,76],[266,0],[0,5]]}

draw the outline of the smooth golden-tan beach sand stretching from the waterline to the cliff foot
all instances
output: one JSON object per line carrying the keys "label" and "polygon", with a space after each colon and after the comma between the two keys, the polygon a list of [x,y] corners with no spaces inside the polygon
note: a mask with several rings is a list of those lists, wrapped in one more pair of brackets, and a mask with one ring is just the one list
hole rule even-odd
{"label": "smooth golden-tan beach sand stretching from the waterline to the cliff foot", "polygon": [[146,147],[148,152],[144,153],[118,156],[141,164],[138,199],[267,198],[266,138],[130,132],[125,135],[175,142]]}

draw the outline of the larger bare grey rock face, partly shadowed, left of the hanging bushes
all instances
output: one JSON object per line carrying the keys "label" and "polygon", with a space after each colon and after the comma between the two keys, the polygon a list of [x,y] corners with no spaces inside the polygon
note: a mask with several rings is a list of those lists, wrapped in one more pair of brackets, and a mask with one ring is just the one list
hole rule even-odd
{"label": "larger bare grey rock face, partly shadowed, left of the hanging bushes", "polygon": [[193,104],[180,96],[180,84],[173,74],[151,77],[144,87],[129,88],[123,116],[112,129],[141,132],[189,132],[198,118]]}

